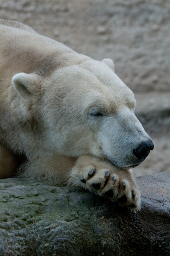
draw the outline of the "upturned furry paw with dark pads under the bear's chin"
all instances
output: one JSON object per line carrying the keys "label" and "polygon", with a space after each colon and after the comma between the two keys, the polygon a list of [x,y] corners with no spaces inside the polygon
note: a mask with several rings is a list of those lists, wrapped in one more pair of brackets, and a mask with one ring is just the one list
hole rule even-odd
{"label": "upturned furry paw with dark pads under the bear's chin", "polygon": [[97,157],[79,157],[71,170],[69,184],[117,201],[131,210],[140,210],[140,192],[131,170],[119,169]]}

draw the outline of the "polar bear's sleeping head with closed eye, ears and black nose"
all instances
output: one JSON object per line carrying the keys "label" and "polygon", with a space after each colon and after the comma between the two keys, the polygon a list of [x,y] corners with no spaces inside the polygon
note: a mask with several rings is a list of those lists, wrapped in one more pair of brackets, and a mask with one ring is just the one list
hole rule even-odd
{"label": "polar bear's sleeping head with closed eye, ears and black nose", "polygon": [[41,155],[91,154],[129,168],[154,147],[135,116],[133,92],[110,59],[88,58],[48,76],[19,73],[12,85],[20,102],[17,111],[25,122],[29,119]]}

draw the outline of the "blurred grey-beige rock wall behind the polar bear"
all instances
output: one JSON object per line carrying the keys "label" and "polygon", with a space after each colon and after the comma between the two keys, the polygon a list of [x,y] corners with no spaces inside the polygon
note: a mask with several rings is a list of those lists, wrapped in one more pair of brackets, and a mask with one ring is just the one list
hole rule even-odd
{"label": "blurred grey-beige rock wall behind the polar bear", "polygon": [[111,58],[155,145],[135,176],[170,173],[169,0],[0,0],[0,18],[93,59]]}

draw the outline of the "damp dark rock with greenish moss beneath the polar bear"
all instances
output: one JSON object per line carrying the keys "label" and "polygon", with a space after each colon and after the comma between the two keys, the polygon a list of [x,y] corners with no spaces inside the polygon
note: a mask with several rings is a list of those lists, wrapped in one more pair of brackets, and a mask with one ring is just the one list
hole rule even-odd
{"label": "damp dark rock with greenish moss beneath the polar bear", "polygon": [[169,180],[168,173],[137,178],[137,213],[79,188],[0,180],[0,255],[168,256]]}

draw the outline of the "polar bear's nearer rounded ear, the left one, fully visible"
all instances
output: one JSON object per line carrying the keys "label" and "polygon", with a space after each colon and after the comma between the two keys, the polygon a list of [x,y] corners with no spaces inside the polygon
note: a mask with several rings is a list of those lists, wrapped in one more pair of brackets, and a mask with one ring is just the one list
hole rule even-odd
{"label": "polar bear's nearer rounded ear, the left one, fully visible", "polygon": [[40,78],[36,74],[18,73],[12,77],[14,89],[24,98],[36,95],[40,88]]}

